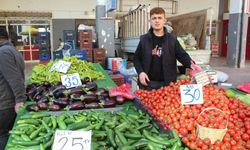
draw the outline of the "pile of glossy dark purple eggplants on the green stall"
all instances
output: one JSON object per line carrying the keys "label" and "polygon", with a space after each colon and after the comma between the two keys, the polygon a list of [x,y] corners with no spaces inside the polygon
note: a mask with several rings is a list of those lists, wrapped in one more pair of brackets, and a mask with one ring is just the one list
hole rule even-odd
{"label": "pile of glossy dark purple eggplants on the green stall", "polygon": [[61,82],[28,85],[26,87],[28,100],[36,103],[26,106],[26,109],[28,111],[96,109],[115,107],[116,104],[121,105],[125,102],[122,96],[110,97],[107,89],[98,88],[89,78],[81,81],[83,83],[81,86],[71,89],[66,89]]}

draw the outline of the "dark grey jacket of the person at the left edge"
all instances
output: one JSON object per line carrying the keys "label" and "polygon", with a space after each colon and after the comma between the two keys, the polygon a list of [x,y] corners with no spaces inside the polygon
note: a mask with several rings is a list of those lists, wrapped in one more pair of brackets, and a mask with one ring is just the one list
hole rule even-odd
{"label": "dark grey jacket of the person at the left edge", "polygon": [[8,41],[0,43],[0,110],[24,102],[24,60]]}

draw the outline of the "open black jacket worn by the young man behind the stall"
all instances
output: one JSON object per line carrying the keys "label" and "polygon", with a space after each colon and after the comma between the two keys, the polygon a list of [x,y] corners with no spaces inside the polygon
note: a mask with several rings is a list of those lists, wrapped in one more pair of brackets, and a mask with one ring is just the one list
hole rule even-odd
{"label": "open black jacket worn by the young man behind the stall", "polygon": [[[150,70],[153,49],[153,29],[140,37],[140,42],[134,54],[134,66],[138,73],[145,72],[147,75]],[[181,47],[177,38],[168,33],[164,28],[164,42],[162,43],[163,57],[162,68],[164,82],[168,85],[177,79],[177,60],[186,68],[190,68],[192,59]]]}

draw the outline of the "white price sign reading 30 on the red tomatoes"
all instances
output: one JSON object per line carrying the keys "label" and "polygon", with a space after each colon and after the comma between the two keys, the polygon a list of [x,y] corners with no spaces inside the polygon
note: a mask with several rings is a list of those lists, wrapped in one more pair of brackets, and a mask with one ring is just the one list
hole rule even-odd
{"label": "white price sign reading 30 on the red tomatoes", "polygon": [[203,104],[203,92],[201,84],[181,85],[181,103],[188,104]]}

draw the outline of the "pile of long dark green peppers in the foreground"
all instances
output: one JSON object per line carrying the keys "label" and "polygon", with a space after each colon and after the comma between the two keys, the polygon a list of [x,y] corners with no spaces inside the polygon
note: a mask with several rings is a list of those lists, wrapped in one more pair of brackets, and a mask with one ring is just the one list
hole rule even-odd
{"label": "pile of long dark green peppers in the foreground", "polygon": [[185,150],[178,135],[170,139],[159,133],[152,119],[134,106],[127,105],[121,111],[90,111],[59,115],[27,113],[10,131],[7,150],[50,149],[57,129],[92,130],[91,149],[173,149]]}

